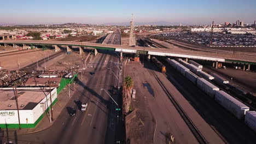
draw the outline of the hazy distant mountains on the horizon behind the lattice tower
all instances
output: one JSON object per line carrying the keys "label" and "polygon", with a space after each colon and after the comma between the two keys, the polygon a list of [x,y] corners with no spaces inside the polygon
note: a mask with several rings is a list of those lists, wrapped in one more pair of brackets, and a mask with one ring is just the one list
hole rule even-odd
{"label": "hazy distant mountains on the horizon behind the lattice tower", "polygon": [[[130,22],[120,22],[120,23],[103,23],[102,25],[112,25],[112,26],[130,26]],[[156,26],[178,26],[178,22],[167,22],[167,21],[156,21],[156,22],[135,22],[135,26],[141,25],[156,25]]]}

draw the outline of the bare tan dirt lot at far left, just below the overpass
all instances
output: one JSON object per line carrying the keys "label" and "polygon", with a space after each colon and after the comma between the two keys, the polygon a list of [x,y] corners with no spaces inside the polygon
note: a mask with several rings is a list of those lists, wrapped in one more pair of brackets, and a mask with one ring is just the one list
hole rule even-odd
{"label": "bare tan dirt lot at far left, just below the overpass", "polygon": [[[55,52],[53,50],[46,50],[45,56],[48,57],[53,55]],[[3,56],[0,57],[0,64],[2,69],[7,70],[17,70],[22,67],[25,67],[28,64],[39,61],[44,58],[44,51],[36,51],[30,53],[21,53],[20,55],[13,56]]]}

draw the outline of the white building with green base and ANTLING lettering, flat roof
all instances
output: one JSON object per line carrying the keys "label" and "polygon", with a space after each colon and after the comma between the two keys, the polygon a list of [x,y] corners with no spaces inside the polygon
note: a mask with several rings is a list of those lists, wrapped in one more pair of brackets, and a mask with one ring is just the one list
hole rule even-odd
{"label": "white building with green base and ANTLING lettering, flat roof", "polygon": [[[50,104],[57,101],[57,88],[53,89],[17,89],[18,109],[15,89],[0,91],[0,127],[1,128],[34,128],[44,117]],[[51,99],[50,99],[51,96]]]}

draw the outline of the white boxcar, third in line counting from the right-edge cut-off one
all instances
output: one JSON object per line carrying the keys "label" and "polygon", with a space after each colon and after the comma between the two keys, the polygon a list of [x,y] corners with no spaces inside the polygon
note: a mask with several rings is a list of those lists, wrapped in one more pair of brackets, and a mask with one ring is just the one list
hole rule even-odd
{"label": "white boxcar, third in line counting from the right-edge cut-off one", "polygon": [[196,86],[212,98],[214,98],[215,91],[219,91],[218,87],[200,77],[197,78]]}

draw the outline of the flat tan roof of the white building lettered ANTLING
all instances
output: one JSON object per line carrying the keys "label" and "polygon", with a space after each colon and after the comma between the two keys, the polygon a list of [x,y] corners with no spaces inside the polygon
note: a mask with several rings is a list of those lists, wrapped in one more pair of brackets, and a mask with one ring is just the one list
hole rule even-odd
{"label": "flat tan roof of the white building lettered ANTLING", "polygon": [[[17,89],[19,109],[32,110],[49,92],[43,89]],[[0,110],[16,110],[15,90],[0,91]]]}

